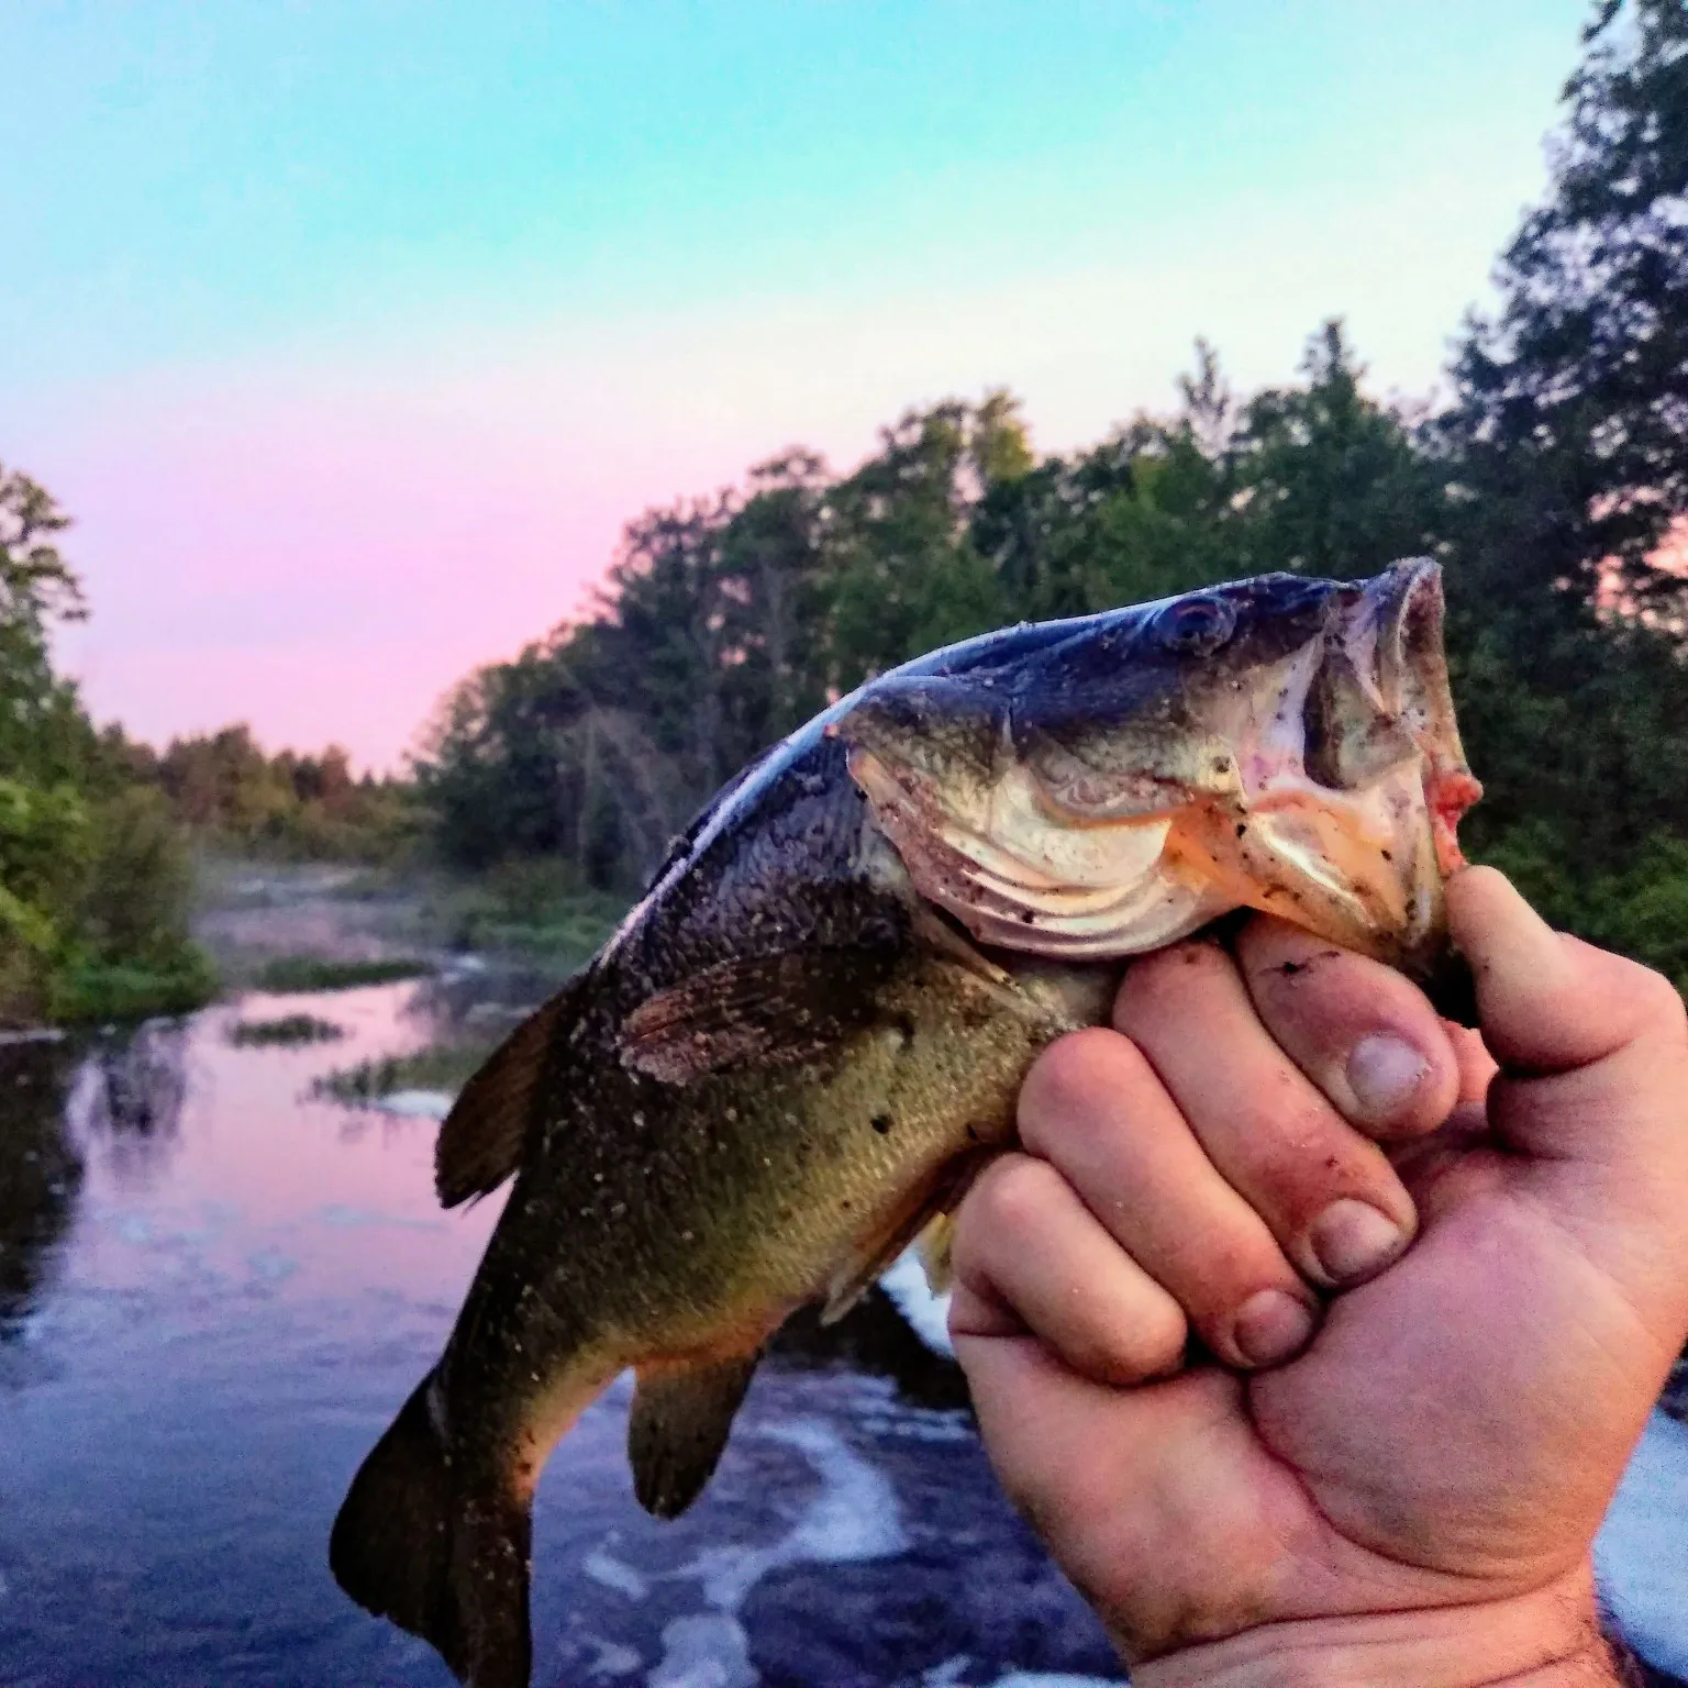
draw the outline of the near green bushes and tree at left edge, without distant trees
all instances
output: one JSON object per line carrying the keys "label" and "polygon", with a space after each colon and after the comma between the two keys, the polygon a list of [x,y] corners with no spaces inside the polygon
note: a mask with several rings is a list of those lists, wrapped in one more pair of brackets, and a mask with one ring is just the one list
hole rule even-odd
{"label": "near green bushes and tree at left edge, without distant trees", "polygon": [[52,626],[84,614],[68,525],[0,468],[0,1025],[170,1013],[213,984],[181,830],[52,670]]}

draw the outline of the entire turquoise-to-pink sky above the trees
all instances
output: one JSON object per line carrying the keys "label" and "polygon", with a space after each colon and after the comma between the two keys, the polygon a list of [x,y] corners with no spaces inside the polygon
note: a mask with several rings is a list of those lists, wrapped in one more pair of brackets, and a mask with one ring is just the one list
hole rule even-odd
{"label": "entire turquoise-to-pink sky above the trees", "polygon": [[0,0],[0,464],[162,743],[402,766],[621,525],[1009,387],[1063,451],[1330,316],[1426,395],[1582,0]]}

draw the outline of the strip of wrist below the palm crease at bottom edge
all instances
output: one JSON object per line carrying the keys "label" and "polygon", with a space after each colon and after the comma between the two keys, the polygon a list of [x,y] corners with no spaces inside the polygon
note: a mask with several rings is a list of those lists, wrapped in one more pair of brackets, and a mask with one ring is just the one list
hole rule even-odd
{"label": "strip of wrist below the palm crease at bottom edge", "polygon": [[1582,1568],[1482,1605],[1261,1624],[1133,1664],[1133,1688],[1626,1688]]}

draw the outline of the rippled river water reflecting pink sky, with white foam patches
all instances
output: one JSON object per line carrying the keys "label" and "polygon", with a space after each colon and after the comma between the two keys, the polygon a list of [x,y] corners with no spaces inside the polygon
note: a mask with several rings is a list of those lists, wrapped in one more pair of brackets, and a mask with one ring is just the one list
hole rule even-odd
{"label": "rippled river water reflecting pink sky, with white foam patches", "polygon": [[[15,1688],[446,1688],[326,1565],[351,1472],[432,1362],[496,1217],[441,1214],[425,1097],[314,1099],[424,1043],[447,989],[248,998],[346,1028],[233,1048],[214,1008],[130,1038],[0,1048],[0,1680]],[[484,1004],[481,1004],[484,1006]],[[918,1283],[893,1283],[930,1323]],[[937,1327],[930,1332],[940,1337]],[[1085,1688],[1119,1673],[991,1480],[950,1366],[873,1296],[758,1374],[721,1470],[647,1518],[626,1386],[540,1487],[535,1683]],[[1604,1587],[1688,1666],[1688,1431],[1658,1416]]]}

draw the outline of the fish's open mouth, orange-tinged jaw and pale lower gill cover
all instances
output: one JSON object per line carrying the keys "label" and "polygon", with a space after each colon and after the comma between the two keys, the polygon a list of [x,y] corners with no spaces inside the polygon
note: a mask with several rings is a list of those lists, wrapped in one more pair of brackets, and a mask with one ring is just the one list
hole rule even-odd
{"label": "fish's open mouth, orange-tinged jaw and pale lower gill cover", "polygon": [[1141,954],[1258,908],[1409,972],[1445,945],[1465,766],[1440,569],[1332,594],[1323,630],[1215,689],[1185,783],[1052,780],[1004,719],[987,776],[935,776],[852,738],[851,773],[917,888],[986,944],[1074,960]]}

